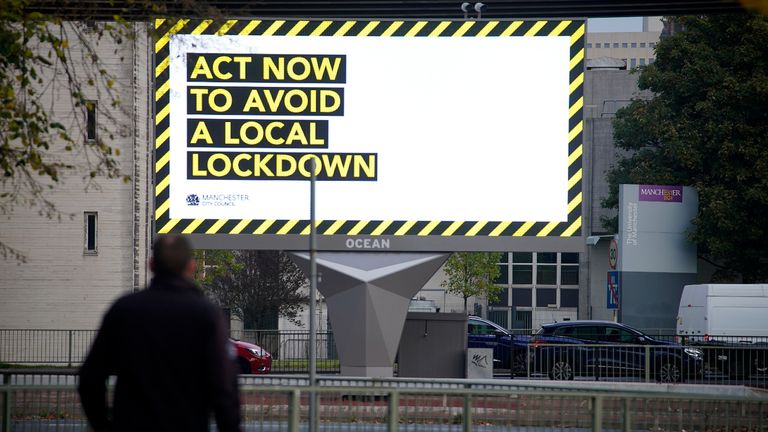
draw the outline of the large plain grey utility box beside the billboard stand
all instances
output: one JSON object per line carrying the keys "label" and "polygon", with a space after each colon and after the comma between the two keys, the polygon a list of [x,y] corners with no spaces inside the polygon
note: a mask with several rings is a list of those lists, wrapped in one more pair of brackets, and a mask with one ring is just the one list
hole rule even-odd
{"label": "large plain grey utility box beside the billboard stand", "polygon": [[397,376],[465,378],[467,315],[409,312],[405,318]]}

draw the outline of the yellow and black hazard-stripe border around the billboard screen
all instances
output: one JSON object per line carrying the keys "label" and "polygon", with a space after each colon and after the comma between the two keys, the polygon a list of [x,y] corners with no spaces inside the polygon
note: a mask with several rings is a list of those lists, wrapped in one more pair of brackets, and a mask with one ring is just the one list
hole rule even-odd
{"label": "yellow and black hazard-stripe border around the billboard screen", "polygon": [[308,235],[308,220],[170,219],[169,42],[174,34],[324,37],[550,37],[571,41],[568,125],[568,221],[317,221],[320,235],[558,236],[581,234],[583,21],[407,21],[407,20],[190,20],[155,21],[155,226],[183,234]]}

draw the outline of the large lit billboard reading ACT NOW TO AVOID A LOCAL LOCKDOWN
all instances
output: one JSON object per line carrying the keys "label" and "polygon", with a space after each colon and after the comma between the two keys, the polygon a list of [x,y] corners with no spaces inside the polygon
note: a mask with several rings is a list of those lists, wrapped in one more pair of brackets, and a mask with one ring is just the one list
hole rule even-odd
{"label": "large lit billboard reading ACT NOW TO AVOID A LOCAL LOCKDOWN", "polygon": [[155,27],[158,233],[303,245],[314,161],[320,249],[577,244],[582,21]]}

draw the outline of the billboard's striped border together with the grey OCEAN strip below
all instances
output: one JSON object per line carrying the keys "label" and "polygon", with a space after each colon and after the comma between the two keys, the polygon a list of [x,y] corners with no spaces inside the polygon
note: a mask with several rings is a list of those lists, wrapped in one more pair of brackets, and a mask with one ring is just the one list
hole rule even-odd
{"label": "billboard's striped border together with the grey OCEAN strip below", "polygon": [[[573,251],[582,237],[583,20],[321,20],[157,19],[154,45],[154,232],[183,234],[206,249],[306,249],[309,219],[171,219],[169,42],[174,34],[330,37],[569,36],[568,218],[566,221],[324,220],[319,250],[328,251]],[[564,143],[565,144],[565,143]],[[309,186],[309,182],[307,182]],[[308,188],[309,189],[309,188]]]}

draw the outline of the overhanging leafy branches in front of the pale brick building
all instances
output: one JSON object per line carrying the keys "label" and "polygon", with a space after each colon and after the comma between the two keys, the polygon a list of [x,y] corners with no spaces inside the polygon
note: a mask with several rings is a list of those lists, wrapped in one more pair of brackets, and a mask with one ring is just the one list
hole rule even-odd
{"label": "overhanging leafy branches in front of the pale brick building", "polygon": [[[116,115],[122,109],[116,80],[98,47],[119,46],[134,33],[119,17],[64,22],[30,11],[32,5],[0,0],[0,214],[23,206],[61,219],[72,215],[60,212],[49,194],[65,174],[82,175],[86,187],[98,187],[98,177],[130,180],[120,173],[120,150],[110,145],[129,132]],[[54,104],[54,92],[62,91],[68,109]],[[101,118],[92,140],[85,139],[87,110]],[[2,239],[0,255],[24,259]]]}

